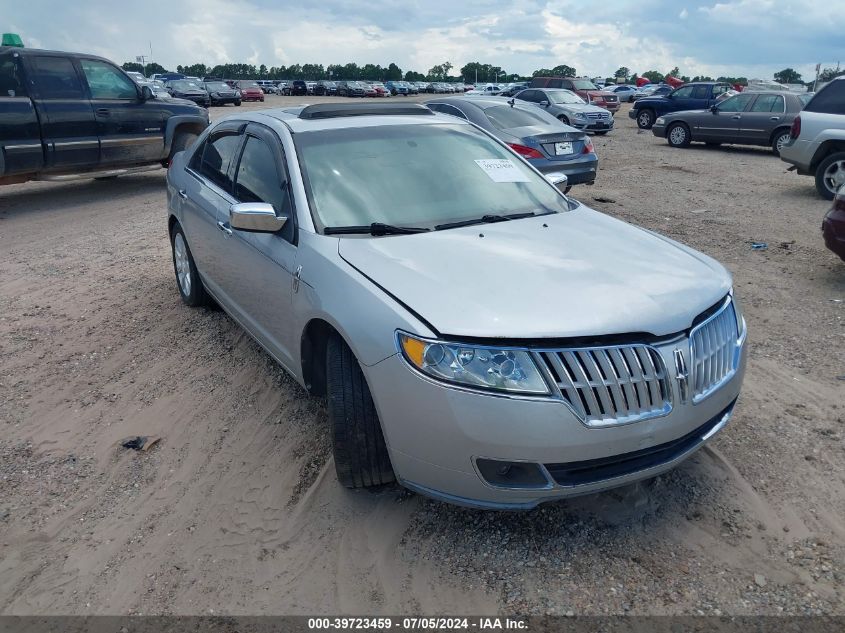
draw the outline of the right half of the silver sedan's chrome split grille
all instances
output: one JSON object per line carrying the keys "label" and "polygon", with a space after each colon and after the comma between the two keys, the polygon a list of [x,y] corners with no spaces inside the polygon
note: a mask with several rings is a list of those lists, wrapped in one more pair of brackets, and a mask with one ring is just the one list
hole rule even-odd
{"label": "right half of the silver sedan's chrome split grille", "polygon": [[690,332],[693,402],[706,398],[736,373],[738,338],[730,299]]}

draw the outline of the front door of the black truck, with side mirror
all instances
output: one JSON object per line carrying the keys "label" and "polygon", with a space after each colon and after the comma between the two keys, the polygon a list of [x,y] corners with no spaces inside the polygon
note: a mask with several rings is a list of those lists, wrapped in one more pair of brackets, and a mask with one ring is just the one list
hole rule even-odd
{"label": "front door of the black truck, with side mirror", "polygon": [[164,156],[164,111],[122,70],[100,59],[79,60],[100,138],[103,167],[153,163]]}

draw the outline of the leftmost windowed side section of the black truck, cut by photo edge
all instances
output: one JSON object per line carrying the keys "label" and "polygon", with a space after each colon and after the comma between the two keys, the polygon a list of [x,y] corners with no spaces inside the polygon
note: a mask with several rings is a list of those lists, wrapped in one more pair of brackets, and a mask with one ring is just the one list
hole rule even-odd
{"label": "leftmost windowed side section of the black truck, cut by photo edge", "polygon": [[0,177],[40,171],[41,129],[16,53],[0,55],[0,120]]}

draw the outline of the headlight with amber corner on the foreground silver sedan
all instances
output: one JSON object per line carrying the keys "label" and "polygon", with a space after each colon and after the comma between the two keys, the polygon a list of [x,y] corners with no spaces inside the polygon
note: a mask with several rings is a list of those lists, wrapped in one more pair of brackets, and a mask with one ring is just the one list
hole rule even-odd
{"label": "headlight with amber corner on the foreground silver sedan", "polygon": [[436,380],[510,393],[549,394],[526,351],[428,341],[404,333],[399,333],[399,347],[405,360]]}

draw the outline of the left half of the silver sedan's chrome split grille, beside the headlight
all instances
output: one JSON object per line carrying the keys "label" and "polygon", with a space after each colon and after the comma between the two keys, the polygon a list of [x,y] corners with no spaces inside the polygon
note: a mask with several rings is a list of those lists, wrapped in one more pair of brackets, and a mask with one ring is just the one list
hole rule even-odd
{"label": "left half of the silver sedan's chrome split grille, beside the headlight", "polygon": [[669,413],[663,358],[648,345],[540,352],[560,395],[588,426],[627,424]]}

